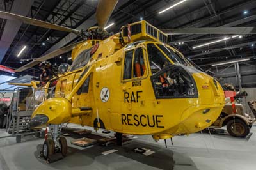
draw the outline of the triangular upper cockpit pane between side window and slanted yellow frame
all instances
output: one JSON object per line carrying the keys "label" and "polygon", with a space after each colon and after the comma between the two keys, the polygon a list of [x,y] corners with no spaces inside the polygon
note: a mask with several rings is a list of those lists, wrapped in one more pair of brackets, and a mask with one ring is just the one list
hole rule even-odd
{"label": "triangular upper cockpit pane between side window and slanted yellow frame", "polygon": [[147,50],[152,74],[162,70],[165,66],[171,65],[170,61],[157,49],[154,43],[148,43]]}

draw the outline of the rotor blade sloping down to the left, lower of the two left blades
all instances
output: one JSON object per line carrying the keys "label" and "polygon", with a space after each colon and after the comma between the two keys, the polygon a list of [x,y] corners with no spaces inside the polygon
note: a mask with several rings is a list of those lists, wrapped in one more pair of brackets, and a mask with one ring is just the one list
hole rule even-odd
{"label": "rotor blade sloping down to the left, lower of the two left blades", "polygon": [[[81,41],[81,42],[83,42],[83,41]],[[65,54],[66,52],[69,52],[70,50],[74,49],[74,47],[76,47],[76,45],[78,45],[81,42],[72,43],[71,45],[62,47],[61,49],[54,50],[54,51],[50,52],[49,54],[46,54],[45,56],[36,58],[34,61],[31,61],[30,63],[28,63],[20,68],[17,68],[17,70],[15,70],[15,72],[23,72],[24,70],[27,70],[28,68],[38,65],[42,61],[47,61],[48,59],[52,59],[61,54]]]}

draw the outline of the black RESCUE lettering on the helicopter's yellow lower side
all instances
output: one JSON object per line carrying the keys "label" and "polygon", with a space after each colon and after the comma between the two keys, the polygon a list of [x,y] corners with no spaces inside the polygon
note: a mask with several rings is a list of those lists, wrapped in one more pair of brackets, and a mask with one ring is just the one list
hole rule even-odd
{"label": "black RESCUE lettering on the helicopter's yellow lower side", "polygon": [[164,126],[161,125],[163,115],[121,114],[121,116],[122,125],[164,128]]}

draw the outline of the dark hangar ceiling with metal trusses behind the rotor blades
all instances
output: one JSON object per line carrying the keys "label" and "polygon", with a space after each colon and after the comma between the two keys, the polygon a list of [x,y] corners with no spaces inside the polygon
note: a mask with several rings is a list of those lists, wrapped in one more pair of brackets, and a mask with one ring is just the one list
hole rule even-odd
{"label": "dark hangar ceiling with metal trusses behind the rotor blades", "polygon": [[[16,11],[17,2],[25,2],[25,7]],[[108,31],[116,33],[121,26],[147,20],[159,29],[185,27],[234,27],[255,26],[256,1],[254,0],[188,0],[162,14],[158,14],[170,4],[179,0],[122,0],[118,2],[109,22],[115,25]],[[31,4],[26,0],[0,0],[0,10],[20,13],[38,20],[44,20],[61,26],[74,29],[87,29],[95,26],[95,10],[97,1],[92,0],[34,0]],[[0,38],[4,38],[6,30],[10,37],[14,37],[8,44],[1,44],[1,65],[19,68],[29,62],[29,59],[38,58],[42,54],[51,52],[76,42],[76,35],[61,31],[44,29],[28,24],[21,24],[18,31],[8,29],[8,21],[0,19]],[[4,32],[5,31],[5,32]],[[234,36],[234,38],[233,38]],[[195,48],[204,43],[227,38],[227,40],[203,47]],[[11,38],[10,38],[11,40]],[[211,63],[227,61],[236,58],[252,57],[250,64],[255,64],[256,35],[170,35],[169,42],[179,49],[186,58],[195,62],[204,69],[211,67]],[[17,58],[20,49],[26,45],[24,54]],[[6,48],[6,52],[2,50]],[[51,63],[59,65],[68,60],[70,53],[51,59]],[[28,60],[28,61],[27,61]],[[21,74],[38,75],[40,70],[31,68]]]}

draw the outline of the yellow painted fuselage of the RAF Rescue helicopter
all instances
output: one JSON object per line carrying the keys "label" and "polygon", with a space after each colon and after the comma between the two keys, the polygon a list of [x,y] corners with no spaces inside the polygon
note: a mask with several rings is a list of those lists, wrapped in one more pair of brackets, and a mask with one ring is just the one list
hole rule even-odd
{"label": "yellow painted fuselage of the RAF Rescue helicopter", "polygon": [[[225,97],[220,84],[215,82],[215,85],[212,77],[200,71],[191,73],[198,91],[196,98],[156,99],[150,79],[152,73],[146,46],[147,43],[163,43],[156,38],[151,38],[154,41],[150,41],[150,36],[147,35],[134,35],[132,40],[135,42],[145,38],[149,40],[132,47],[122,47],[116,41],[118,36],[116,34],[102,41],[87,40],[77,45],[72,51],[73,60],[83,50],[92,47],[93,41],[99,41],[99,48],[88,64],[60,75],[56,85],[56,98],[46,100],[35,110],[33,116],[45,114],[50,118],[48,123],[52,124],[68,121],[88,126],[93,126],[93,122],[97,122],[99,118],[108,130],[125,134],[152,134],[155,139],[198,132],[209,127],[218,118],[225,104]],[[143,38],[140,39],[139,36]],[[125,51],[138,47],[143,48],[146,72],[142,77],[123,81]],[[171,60],[170,63],[174,64]],[[83,74],[86,69],[88,71]],[[88,93],[77,94],[89,75]],[[132,83],[138,81],[141,81],[141,86],[132,86]],[[207,88],[202,88],[203,86]],[[100,99],[103,88],[108,88],[107,102]],[[135,101],[125,102],[125,92],[133,94]],[[61,100],[60,97],[67,99]],[[55,110],[52,111],[50,107]],[[81,111],[82,107],[91,107],[92,110]],[[205,109],[209,111],[204,114]],[[122,116],[125,116],[125,121],[122,121]]]}

